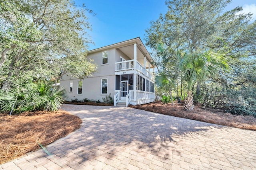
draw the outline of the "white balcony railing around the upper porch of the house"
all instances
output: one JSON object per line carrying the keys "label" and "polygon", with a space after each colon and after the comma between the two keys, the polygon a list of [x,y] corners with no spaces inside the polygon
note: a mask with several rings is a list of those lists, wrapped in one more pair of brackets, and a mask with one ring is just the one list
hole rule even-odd
{"label": "white balcony railing around the upper porch of the house", "polygon": [[136,69],[134,69],[134,60],[117,62],[115,66],[115,71],[126,71],[126,70],[137,70],[145,76],[152,78],[153,74],[150,73],[146,68],[144,68],[138,61],[136,61]]}

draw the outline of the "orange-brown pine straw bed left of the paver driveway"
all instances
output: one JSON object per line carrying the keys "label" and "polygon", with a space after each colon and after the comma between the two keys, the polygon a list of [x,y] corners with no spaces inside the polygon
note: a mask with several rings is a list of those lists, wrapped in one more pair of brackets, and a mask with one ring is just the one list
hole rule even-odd
{"label": "orange-brown pine straw bed left of the paver driveway", "polygon": [[0,164],[65,137],[81,123],[79,117],[61,110],[0,115]]}

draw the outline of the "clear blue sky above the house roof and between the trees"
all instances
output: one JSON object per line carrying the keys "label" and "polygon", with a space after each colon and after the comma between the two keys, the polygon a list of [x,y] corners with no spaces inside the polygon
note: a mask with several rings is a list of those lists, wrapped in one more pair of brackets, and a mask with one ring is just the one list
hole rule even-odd
{"label": "clear blue sky above the house roof and between the trees", "polygon": [[[83,3],[96,13],[88,14],[92,24],[88,34],[95,43],[89,45],[89,50],[136,37],[145,43],[145,29],[150,27],[150,21],[167,11],[165,0],[75,0],[78,6]],[[226,10],[237,6],[243,6],[246,13],[256,13],[256,0],[232,0]],[[255,20],[256,14],[253,17]]]}

